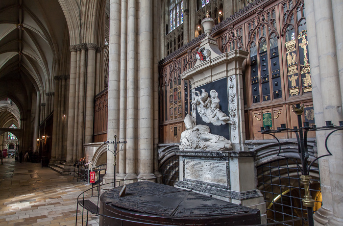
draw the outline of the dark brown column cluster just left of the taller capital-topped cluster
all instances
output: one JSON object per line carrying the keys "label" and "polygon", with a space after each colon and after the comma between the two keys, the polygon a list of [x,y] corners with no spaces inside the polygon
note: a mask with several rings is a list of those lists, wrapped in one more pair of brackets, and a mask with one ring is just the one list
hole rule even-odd
{"label": "dark brown column cluster just left of the taller capital-topped cluster", "polygon": [[69,75],[54,76],[55,80],[55,100],[53,114],[53,130],[51,144],[50,162],[55,163],[66,159],[67,139],[67,117],[68,112],[68,95],[69,95]]}

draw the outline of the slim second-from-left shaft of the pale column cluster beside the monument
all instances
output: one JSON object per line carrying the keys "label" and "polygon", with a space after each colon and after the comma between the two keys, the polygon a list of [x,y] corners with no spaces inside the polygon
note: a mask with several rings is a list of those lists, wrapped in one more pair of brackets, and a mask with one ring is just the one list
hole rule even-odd
{"label": "slim second-from-left shaft of the pale column cluster beside the monument", "polygon": [[[120,121],[119,121],[119,139],[126,140],[126,57],[127,57],[127,0],[122,0],[122,16],[121,16],[121,61],[120,61]],[[123,146],[123,151],[119,152],[118,166],[119,175],[118,179],[123,179],[125,174],[125,158],[126,146]]]}

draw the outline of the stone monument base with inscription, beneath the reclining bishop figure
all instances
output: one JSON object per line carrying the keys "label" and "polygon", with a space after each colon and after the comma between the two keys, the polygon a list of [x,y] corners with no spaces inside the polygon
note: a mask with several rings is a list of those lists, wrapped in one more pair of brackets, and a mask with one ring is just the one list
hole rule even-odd
{"label": "stone monument base with inscription, beneath the reclining bishop figure", "polygon": [[175,187],[259,209],[266,223],[266,203],[256,189],[254,152],[194,151],[176,152],[179,157],[179,181]]}

